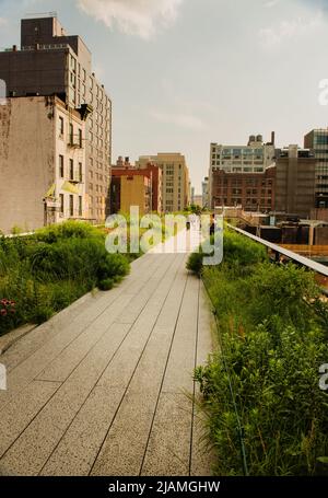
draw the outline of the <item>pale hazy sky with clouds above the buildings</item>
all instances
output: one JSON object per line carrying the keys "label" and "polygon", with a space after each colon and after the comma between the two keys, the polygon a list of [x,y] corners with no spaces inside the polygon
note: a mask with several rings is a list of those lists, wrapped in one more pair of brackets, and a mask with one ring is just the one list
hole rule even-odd
{"label": "pale hazy sky with clouds above the buildings", "polygon": [[328,126],[328,0],[0,0],[0,49],[54,11],[112,97],[114,160],[181,152],[200,193],[211,142]]}

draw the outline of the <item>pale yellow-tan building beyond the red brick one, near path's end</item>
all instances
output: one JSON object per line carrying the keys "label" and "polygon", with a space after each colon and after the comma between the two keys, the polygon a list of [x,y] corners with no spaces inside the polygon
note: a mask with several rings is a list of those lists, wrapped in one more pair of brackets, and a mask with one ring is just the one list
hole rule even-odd
{"label": "pale yellow-tan building beyond the red brick one, near path's end", "polygon": [[185,157],[180,153],[142,155],[136,165],[144,169],[149,163],[155,164],[162,170],[163,211],[184,210],[190,204],[189,170]]}

